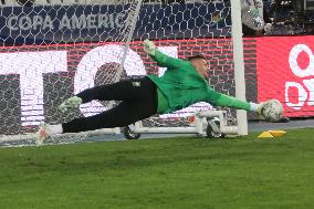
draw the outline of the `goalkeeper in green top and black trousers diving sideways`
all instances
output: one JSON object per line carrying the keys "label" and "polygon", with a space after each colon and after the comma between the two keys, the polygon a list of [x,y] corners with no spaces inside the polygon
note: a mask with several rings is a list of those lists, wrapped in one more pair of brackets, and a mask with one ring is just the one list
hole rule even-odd
{"label": "goalkeeper in green top and black trousers diving sideways", "polygon": [[80,117],[57,125],[42,125],[38,140],[42,142],[55,134],[124,127],[151,115],[172,113],[198,102],[262,114],[261,109],[266,103],[248,103],[214,92],[207,82],[208,65],[203,56],[191,56],[187,61],[170,58],[157,50],[149,40],[144,41],[144,50],[158,66],[167,67],[163,76],[147,75],[143,79],[95,86],[67,98],[59,107],[62,112],[77,108],[93,100],[122,102],[94,116]]}

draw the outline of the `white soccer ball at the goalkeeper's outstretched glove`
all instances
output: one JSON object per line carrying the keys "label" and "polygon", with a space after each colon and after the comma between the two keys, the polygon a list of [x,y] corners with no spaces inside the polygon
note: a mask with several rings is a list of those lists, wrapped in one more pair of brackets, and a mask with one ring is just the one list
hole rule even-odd
{"label": "white soccer ball at the goalkeeper's outstretched glove", "polygon": [[268,101],[262,107],[262,116],[269,122],[279,122],[283,116],[282,104],[278,100]]}

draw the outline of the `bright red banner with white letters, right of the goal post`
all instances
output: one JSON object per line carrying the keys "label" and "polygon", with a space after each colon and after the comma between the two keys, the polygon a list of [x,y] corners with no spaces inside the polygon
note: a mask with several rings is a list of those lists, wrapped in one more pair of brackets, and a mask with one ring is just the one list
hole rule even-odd
{"label": "bright red banner with white letters, right of the goal post", "polygon": [[276,98],[285,116],[314,116],[314,36],[257,39],[259,102]]}

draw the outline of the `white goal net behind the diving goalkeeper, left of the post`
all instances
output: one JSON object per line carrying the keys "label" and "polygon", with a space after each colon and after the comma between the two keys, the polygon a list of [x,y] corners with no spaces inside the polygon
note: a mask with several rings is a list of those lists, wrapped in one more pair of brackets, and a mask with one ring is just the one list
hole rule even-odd
{"label": "white goal net behind the diving goalkeeper, left of the post", "polygon": [[[174,58],[205,55],[210,85],[234,95],[230,1],[42,0],[28,7],[6,2],[0,8],[0,143],[21,139],[41,123],[59,124],[115,105],[94,101],[70,115],[57,111],[64,100],[85,88],[163,75],[165,69],[144,53],[145,39]],[[198,103],[144,124],[181,126],[193,112],[208,108],[210,104]],[[67,137],[71,142],[83,138]]]}

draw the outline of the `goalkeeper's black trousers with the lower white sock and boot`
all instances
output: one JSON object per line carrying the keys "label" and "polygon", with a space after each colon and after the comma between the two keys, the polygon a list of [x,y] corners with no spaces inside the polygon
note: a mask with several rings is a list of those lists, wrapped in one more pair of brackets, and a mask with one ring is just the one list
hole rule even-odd
{"label": "goalkeeper's black trousers with the lower white sock and boot", "polygon": [[92,100],[123,102],[112,109],[94,116],[76,118],[59,125],[42,126],[39,130],[39,140],[42,142],[54,134],[123,127],[147,118],[157,112],[156,85],[147,77],[93,87],[77,94],[77,97],[82,98],[83,103]]}

